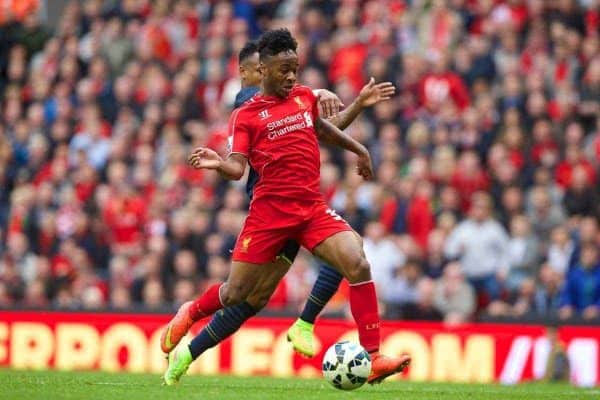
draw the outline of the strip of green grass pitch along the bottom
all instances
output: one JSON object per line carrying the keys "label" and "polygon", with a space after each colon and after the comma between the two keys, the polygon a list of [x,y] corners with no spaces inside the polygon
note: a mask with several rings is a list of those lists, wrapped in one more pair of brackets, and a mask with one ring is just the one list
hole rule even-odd
{"label": "strip of green grass pitch along the bottom", "polygon": [[157,375],[97,372],[31,372],[0,370],[0,399],[19,400],[543,400],[599,399],[600,389],[566,384],[517,386],[414,383],[390,381],[353,392],[341,392],[322,379],[277,379],[231,376],[184,377],[176,387],[163,387]]}

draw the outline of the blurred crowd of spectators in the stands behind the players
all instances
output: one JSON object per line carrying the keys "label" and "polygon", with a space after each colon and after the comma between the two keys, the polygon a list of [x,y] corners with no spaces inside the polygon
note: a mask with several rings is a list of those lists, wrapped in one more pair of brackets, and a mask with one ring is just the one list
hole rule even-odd
{"label": "blurred crowd of spectators in the stands behind the players", "polygon": [[[0,306],[161,309],[226,278],[244,183],[186,157],[226,154],[238,51],[287,27],[302,83],[345,104],[369,77],[397,87],[347,129],[375,181],[321,157],[388,317],[600,312],[598,0],[85,0],[54,29],[35,7],[0,21]],[[318,265],[301,253],[269,308],[296,312]]]}

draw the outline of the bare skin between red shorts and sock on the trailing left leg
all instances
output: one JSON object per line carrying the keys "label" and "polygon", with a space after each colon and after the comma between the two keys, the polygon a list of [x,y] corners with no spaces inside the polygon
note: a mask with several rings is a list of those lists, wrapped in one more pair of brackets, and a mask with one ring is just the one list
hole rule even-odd
{"label": "bare skin between red shorts and sock on the trailing left leg", "polygon": [[241,303],[258,284],[265,265],[233,261],[229,277],[221,289],[223,305]]}

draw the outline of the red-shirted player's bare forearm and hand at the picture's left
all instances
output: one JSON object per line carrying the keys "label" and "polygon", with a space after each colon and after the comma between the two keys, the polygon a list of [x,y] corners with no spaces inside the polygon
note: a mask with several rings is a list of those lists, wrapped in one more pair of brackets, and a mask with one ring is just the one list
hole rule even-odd
{"label": "red-shirted player's bare forearm and hand at the picture's left", "polygon": [[231,153],[226,159],[208,147],[199,147],[188,158],[188,164],[196,169],[213,169],[227,180],[237,181],[244,176],[248,159],[240,153]]}

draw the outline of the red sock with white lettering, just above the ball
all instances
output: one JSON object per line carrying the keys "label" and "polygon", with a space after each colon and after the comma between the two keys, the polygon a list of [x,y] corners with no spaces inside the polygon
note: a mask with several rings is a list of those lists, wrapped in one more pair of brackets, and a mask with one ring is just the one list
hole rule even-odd
{"label": "red sock with white lettering, just above the ball", "polygon": [[373,281],[350,285],[350,309],[360,344],[369,353],[379,351],[379,311]]}

